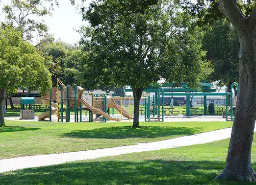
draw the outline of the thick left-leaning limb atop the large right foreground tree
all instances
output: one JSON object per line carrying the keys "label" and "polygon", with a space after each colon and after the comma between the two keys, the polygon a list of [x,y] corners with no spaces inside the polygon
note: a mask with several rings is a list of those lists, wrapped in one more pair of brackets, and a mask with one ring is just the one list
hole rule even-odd
{"label": "thick left-leaning limb atop the large right foreground tree", "polygon": [[246,24],[246,18],[237,6],[237,0],[219,0],[219,10],[223,12],[237,29]]}

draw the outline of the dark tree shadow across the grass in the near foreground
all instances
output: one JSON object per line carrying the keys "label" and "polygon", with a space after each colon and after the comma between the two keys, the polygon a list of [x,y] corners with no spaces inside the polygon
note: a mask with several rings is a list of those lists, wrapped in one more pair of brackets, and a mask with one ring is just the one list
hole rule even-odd
{"label": "dark tree shadow across the grass in the near foreground", "polygon": [[0,176],[0,182],[4,185],[18,182],[20,185],[219,185],[212,180],[224,167],[225,162],[213,161],[73,162],[17,170]]}

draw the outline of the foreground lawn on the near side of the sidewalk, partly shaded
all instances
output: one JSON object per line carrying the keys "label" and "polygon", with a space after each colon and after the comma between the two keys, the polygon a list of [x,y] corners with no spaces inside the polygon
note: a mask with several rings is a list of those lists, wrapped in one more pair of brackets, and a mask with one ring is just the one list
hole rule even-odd
{"label": "foreground lawn on the near side of the sidewalk, partly shaded", "polygon": [[[252,185],[216,182],[229,139],[158,151],[124,154],[3,173],[6,185]],[[256,168],[256,142],[252,148]]]}

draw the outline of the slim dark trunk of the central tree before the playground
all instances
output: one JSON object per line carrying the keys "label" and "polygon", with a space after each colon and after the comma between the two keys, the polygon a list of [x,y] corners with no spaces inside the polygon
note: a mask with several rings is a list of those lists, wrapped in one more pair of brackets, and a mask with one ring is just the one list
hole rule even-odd
{"label": "slim dark trunk of the central tree before the playground", "polygon": [[133,111],[133,125],[132,127],[139,127],[139,107],[140,98],[143,92],[143,88],[132,88],[133,98],[134,98],[134,111]]}

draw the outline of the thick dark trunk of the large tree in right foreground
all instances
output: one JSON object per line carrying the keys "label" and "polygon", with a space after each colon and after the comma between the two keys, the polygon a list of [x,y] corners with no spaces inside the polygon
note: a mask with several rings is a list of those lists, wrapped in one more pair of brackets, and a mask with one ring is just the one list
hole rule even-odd
{"label": "thick dark trunk of the large tree in right foreground", "polygon": [[227,164],[217,179],[256,182],[251,164],[251,148],[256,120],[256,33],[238,31],[239,93]]}

